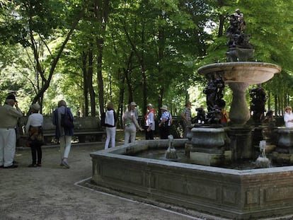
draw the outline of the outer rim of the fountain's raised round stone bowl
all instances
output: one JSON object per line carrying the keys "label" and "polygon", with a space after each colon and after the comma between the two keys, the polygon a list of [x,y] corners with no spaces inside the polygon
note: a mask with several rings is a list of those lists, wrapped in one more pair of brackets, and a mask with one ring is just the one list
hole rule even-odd
{"label": "outer rim of the fountain's raised round stone bowl", "polygon": [[236,68],[236,67],[243,67],[243,66],[253,66],[253,67],[266,67],[270,69],[276,69],[275,73],[279,73],[282,71],[282,68],[277,64],[271,64],[266,62],[226,62],[226,63],[214,63],[214,64],[207,64],[205,66],[200,67],[197,69],[197,72],[201,75],[211,73],[211,69],[214,68],[214,71],[222,71],[229,68]]}

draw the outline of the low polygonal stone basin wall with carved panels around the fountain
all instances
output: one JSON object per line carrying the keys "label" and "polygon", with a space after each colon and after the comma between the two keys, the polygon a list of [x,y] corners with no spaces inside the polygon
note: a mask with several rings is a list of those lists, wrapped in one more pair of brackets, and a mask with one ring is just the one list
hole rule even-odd
{"label": "low polygonal stone basin wall with carved panels around the fountain", "polygon": [[[174,139],[182,146],[188,139]],[[92,183],[148,201],[229,219],[293,214],[293,166],[232,170],[133,156],[167,149],[168,140],[137,141],[91,153]]]}

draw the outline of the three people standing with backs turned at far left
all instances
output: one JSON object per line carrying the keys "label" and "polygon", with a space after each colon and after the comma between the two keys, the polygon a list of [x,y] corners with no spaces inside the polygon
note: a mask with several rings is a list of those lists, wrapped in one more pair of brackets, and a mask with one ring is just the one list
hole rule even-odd
{"label": "three people standing with backs turned at far left", "polygon": [[[26,146],[30,147],[32,156],[32,163],[28,167],[31,168],[42,166],[42,145],[45,143],[42,132],[43,116],[39,111],[40,105],[38,103],[30,105],[28,121],[25,125]],[[74,134],[74,128],[62,125],[62,115],[67,115],[68,120],[73,125],[74,117],[64,100],[58,102],[58,107],[54,110],[52,123],[56,126],[56,137],[60,143],[60,166],[69,168],[67,158],[71,148],[71,137]],[[8,95],[4,105],[0,106],[0,168],[18,167],[14,157],[16,154],[16,129],[18,119],[21,117],[23,117],[23,112],[18,108],[16,96],[13,94]]]}

